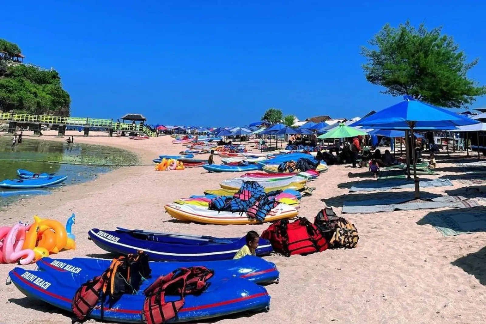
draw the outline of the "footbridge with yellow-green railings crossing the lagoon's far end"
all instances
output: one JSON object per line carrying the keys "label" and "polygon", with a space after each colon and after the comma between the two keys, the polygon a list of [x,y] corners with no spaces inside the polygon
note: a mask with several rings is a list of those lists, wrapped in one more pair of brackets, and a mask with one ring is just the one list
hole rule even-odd
{"label": "footbridge with yellow-green railings crossing the lagoon's far end", "polygon": [[[148,136],[155,136],[147,126],[141,124],[130,124],[123,122],[113,122],[113,119],[97,119],[97,118],[80,118],[80,117],[61,117],[48,115],[28,115],[28,114],[11,114],[0,113],[0,120],[9,122],[9,133],[15,132],[17,123],[32,124],[34,132],[40,129],[41,124],[58,125],[59,135],[64,135],[66,126],[84,127],[85,135],[89,134],[90,127],[104,127],[109,130],[110,136],[115,131],[123,132],[139,132]],[[38,128],[36,128],[37,126]],[[61,134],[62,133],[62,134]]]}

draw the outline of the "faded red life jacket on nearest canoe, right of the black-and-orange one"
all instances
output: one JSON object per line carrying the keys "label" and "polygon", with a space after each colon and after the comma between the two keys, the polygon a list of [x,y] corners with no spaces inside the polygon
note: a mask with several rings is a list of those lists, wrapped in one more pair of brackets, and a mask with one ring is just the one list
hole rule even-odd
{"label": "faded red life jacket on nearest canoe, right of the black-and-orange one", "polygon": [[[205,267],[180,268],[160,276],[143,292],[147,296],[143,303],[142,318],[147,324],[162,324],[177,315],[184,306],[184,296],[201,292],[208,287],[208,279],[214,271]],[[179,295],[175,302],[166,302],[165,295]]]}

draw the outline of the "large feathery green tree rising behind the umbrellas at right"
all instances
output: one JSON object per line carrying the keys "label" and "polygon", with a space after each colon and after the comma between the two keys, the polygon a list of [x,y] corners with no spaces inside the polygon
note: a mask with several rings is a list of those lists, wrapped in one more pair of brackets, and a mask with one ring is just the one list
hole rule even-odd
{"label": "large feathery green tree rising behind the umbrellas at right", "polygon": [[398,28],[386,24],[363,47],[366,80],[386,88],[392,96],[410,95],[434,105],[459,108],[468,106],[486,87],[467,77],[478,59],[466,61],[452,37],[441,34],[441,27],[428,31],[409,21]]}

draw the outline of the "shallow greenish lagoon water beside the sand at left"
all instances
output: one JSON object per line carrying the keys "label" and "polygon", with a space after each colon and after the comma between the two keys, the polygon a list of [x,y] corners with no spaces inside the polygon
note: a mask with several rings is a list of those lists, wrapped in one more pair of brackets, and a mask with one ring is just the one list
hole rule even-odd
{"label": "shallow greenish lagoon water beside the sand at left", "polygon": [[[93,180],[98,174],[117,167],[139,164],[136,154],[112,147],[24,138],[21,144],[12,148],[10,139],[9,136],[0,136],[0,181],[17,179],[17,169],[26,169],[36,173],[67,175],[68,179],[60,186],[69,186]],[[50,194],[52,188],[55,187],[28,190],[0,188],[0,206],[20,198]]]}

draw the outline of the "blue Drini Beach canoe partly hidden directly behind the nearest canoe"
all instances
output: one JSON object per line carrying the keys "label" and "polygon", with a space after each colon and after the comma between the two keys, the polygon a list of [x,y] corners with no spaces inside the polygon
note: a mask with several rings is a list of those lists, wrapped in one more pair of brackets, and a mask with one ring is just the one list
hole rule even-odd
{"label": "blue Drini Beach canoe partly hidden directly behind the nearest canoe", "polygon": [[[75,257],[72,259],[52,259],[44,257],[37,261],[36,266],[41,271],[75,273],[93,278],[110,266],[111,260],[92,257]],[[244,256],[237,260],[196,261],[196,262],[149,262],[154,273],[170,273],[177,268],[204,266],[212,269],[221,277],[240,277],[259,285],[278,282],[278,270],[273,262],[268,262],[258,256]]]}

